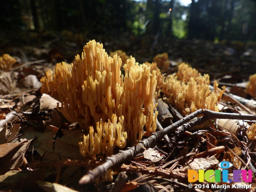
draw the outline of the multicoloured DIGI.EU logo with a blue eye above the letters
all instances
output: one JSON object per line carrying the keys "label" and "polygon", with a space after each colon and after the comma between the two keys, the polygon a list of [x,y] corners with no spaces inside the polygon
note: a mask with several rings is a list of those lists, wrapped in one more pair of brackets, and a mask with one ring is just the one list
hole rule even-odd
{"label": "multicoloured DIGI.EU logo with a blue eye above the letters", "polygon": [[218,167],[222,170],[188,170],[188,182],[252,182],[252,170],[233,170],[233,179],[228,179],[228,168],[234,166],[231,162],[222,161]]}

